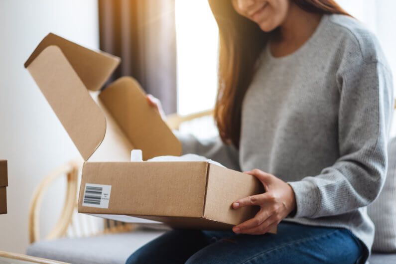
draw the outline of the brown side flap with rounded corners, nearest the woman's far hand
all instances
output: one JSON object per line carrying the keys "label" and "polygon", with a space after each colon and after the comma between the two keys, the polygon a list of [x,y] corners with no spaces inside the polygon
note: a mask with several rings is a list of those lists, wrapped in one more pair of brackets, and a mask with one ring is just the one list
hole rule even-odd
{"label": "brown side flap with rounded corners, nearest the woman's far hand", "polygon": [[132,145],[143,150],[143,160],[163,155],[181,155],[180,141],[158,111],[149,106],[136,80],[122,77],[106,87],[99,98]]}

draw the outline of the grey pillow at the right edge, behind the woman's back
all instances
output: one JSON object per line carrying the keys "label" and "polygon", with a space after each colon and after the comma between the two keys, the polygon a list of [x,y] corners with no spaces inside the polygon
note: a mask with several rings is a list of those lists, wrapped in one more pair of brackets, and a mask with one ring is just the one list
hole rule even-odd
{"label": "grey pillow at the right edge, behind the woman's back", "polygon": [[373,251],[396,252],[396,137],[388,143],[388,173],[380,196],[368,206],[376,226]]}

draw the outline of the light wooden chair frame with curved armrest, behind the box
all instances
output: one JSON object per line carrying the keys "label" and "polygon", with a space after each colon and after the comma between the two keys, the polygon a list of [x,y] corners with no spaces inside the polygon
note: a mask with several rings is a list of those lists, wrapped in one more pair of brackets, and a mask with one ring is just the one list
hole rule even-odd
{"label": "light wooden chair frame with curved armrest, behind the box", "polygon": [[[188,116],[179,116],[173,114],[167,117],[166,123],[171,129],[179,129],[180,124],[193,119],[213,115],[213,110],[203,111]],[[45,237],[46,240],[58,239],[61,237],[85,237],[95,236],[107,233],[119,233],[132,231],[136,225],[118,222],[109,219],[98,219],[94,216],[77,213],[78,189],[80,185],[80,173],[83,165],[83,159],[72,160],[55,169],[38,185],[35,190],[30,208],[28,219],[29,243],[40,240],[39,221],[40,205],[43,196],[51,184],[61,177],[66,177],[66,195],[63,204],[62,213],[59,216],[55,226]],[[98,223],[99,225],[95,224]]]}

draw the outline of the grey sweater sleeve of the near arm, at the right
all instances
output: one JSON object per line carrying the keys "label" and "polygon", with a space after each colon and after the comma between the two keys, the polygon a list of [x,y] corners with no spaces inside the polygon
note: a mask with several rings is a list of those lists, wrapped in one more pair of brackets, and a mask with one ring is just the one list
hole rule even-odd
{"label": "grey sweater sleeve of the near arm, at the right", "polygon": [[297,203],[294,218],[338,215],[367,206],[385,181],[392,74],[382,63],[369,62],[339,78],[340,157],[319,175],[288,182]]}

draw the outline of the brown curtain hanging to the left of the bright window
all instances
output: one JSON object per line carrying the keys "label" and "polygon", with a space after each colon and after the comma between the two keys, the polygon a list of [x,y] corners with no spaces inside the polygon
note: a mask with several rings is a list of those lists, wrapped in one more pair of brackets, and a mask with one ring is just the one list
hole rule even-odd
{"label": "brown curtain hanging to the left of the bright window", "polygon": [[98,0],[100,48],[121,57],[111,80],[134,77],[176,112],[175,0]]}

